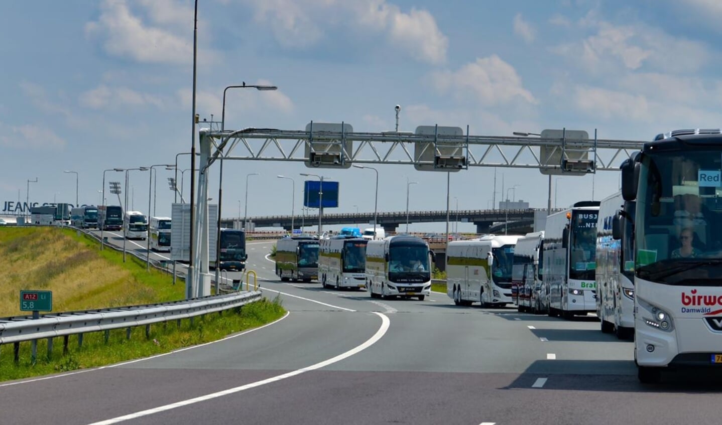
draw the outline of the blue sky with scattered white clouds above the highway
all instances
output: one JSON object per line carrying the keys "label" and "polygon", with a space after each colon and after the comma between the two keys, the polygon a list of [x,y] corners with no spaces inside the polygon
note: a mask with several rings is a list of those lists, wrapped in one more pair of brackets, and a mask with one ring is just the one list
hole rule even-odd
{"label": "blue sky with scattered white clouds above the highway", "polygon": [[[674,128],[721,126],[722,2],[629,1],[199,1],[197,110],[219,120],[224,87],[275,84],[277,92],[229,91],[226,128],[303,129],[309,121],[355,131],[419,125],[509,136],[570,128],[601,139],[648,140]],[[97,203],[103,170],[175,162],[190,149],[193,4],[187,0],[13,1],[0,15],[0,200]],[[179,167],[188,168],[188,156]],[[224,214],[290,214],[290,162],[229,162]],[[313,171],[311,171],[313,172]],[[339,209],[373,211],[373,172],[328,170]],[[445,209],[445,175],[380,165],[379,210]],[[157,173],[157,215],[173,193]],[[451,208],[490,205],[494,169],[451,176]],[[501,176],[505,188],[501,194]],[[123,181],[108,172],[108,181]],[[186,172],[188,183],[189,172]],[[562,177],[558,206],[617,190],[617,172]],[[217,196],[212,171],[211,193]],[[514,190],[507,188],[518,185]],[[147,173],[131,172],[134,208],[147,211]],[[189,185],[186,184],[186,196]],[[547,179],[497,169],[506,195],[542,208]],[[443,224],[410,229],[440,230]],[[460,224],[458,229],[473,229]]]}

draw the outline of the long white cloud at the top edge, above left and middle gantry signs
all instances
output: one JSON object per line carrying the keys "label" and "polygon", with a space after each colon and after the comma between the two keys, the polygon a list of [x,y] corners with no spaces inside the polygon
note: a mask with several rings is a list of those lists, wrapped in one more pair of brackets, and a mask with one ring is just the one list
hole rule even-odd
{"label": "long white cloud at the top edge, above left and middle gantry signs", "polygon": [[290,48],[313,45],[324,28],[356,27],[386,34],[393,47],[427,63],[443,63],[448,39],[432,14],[412,8],[401,12],[386,0],[246,0],[258,22],[271,25],[279,43]]}

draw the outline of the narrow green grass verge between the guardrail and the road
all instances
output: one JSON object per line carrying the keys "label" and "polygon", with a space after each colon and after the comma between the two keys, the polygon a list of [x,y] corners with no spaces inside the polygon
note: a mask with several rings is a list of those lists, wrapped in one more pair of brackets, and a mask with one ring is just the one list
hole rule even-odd
{"label": "narrow green grass verge between the guardrail and the road", "polygon": [[110,331],[108,343],[103,332],[84,335],[82,346],[78,337],[69,338],[68,353],[62,355],[63,338],[54,338],[53,355],[48,358],[47,340],[38,341],[38,359],[31,362],[30,342],[20,344],[19,362],[13,361],[12,345],[0,346],[0,381],[17,380],[57,372],[99,367],[132,359],[168,353],[175,349],[217,341],[225,336],[270,323],[283,317],[285,310],[278,297],[262,299],[235,310],[184,319],[178,328],[175,321],[152,325],[150,335],[144,327],[132,328],[126,339],[126,329]]}

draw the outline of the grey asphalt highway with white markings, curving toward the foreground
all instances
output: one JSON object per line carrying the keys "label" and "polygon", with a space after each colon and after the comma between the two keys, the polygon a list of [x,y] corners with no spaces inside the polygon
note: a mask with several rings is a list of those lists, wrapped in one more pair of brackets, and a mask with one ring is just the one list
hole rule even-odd
{"label": "grey asphalt highway with white markings, curving toward the foreground", "polygon": [[[376,300],[248,268],[289,315],[217,343],[0,385],[0,424],[717,424],[722,380],[640,385],[593,317]],[[144,250],[144,247],[138,248]]]}

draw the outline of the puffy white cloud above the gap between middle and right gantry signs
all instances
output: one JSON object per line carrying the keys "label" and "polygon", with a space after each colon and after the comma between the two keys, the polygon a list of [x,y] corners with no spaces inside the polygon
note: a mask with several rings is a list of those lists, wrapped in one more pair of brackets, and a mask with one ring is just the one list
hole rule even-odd
{"label": "puffy white cloud above the gap between middle and right gantry signs", "polygon": [[496,55],[477,58],[458,71],[435,72],[432,79],[441,91],[451,91],[460,99],[471,97],[482,105],[504,105],[520,100],[539,103],[529,90],[524,89],[516,69]]}

